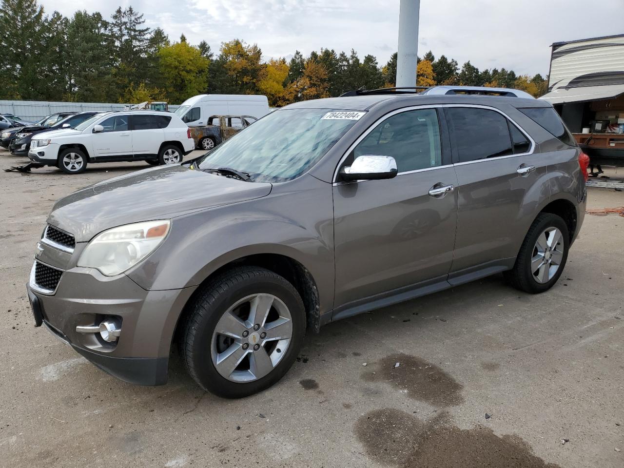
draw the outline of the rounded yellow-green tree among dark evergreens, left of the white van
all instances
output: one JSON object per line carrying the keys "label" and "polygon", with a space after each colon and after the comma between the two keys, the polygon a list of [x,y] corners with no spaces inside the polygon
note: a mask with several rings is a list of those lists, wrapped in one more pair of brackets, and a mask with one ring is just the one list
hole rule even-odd
{"label": "rounded yellow-green tree among dark evergreens, left of the white van", "polygon": [[168,101],[183,102],[207,88],[209,62],[197,47],[186,41],[175,42],[162,47],[158,59]]}

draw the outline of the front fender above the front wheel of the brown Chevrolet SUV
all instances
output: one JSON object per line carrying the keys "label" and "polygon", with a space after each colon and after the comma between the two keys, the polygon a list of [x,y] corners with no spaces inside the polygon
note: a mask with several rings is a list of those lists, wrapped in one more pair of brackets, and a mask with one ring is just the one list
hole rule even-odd
{"label": "front fender above the front wheel of the brown Chevrolet SUV", "polygon": [[276,184],[266,197],[174,218],[163,245],[127,275],[146,290],[182,289],[256,254],[284,255],[301,263],[316,282],[321,312],[331,310],[331,185],[303,176]]}

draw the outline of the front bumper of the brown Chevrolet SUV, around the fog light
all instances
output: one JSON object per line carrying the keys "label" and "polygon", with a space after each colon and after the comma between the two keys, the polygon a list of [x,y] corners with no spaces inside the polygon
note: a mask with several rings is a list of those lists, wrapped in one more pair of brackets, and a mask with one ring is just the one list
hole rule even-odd
{"label": "front bumper of the brown Chevrolet SUV, around the fog light", "polygon": [[[55,256],[62,258],[48,251],[47,257],[40,256],[37,261],[45,259],[49,265]],[[63,271],[54,291],[42,292],[34,275],[26,287],[36,326],[44,324],[95,366],[129,383],[167,382],[173,331],[195,288],[146,291],[128,276],[109,278],[80,267]],[[110,316],[121,323],[116,343],[105,342],[98,333],[76,331],[77,326],[99,324]]]}

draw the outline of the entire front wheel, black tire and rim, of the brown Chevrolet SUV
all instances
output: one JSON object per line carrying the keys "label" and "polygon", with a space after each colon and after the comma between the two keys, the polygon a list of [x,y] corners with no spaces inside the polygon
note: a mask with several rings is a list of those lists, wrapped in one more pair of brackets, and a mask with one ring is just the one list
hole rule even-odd
{"label": "entire front wheel, black tire and rim, of the brown Chevrolet SUV", "polygon": [[[258,323],[250,321],[253,305],[268,311]],[[235,268],[198,294],[182,328],[180,354],[204,390],[245,397],[286,374],[301,348],[305,324],[303,301],[291,283],[265,268]]]}

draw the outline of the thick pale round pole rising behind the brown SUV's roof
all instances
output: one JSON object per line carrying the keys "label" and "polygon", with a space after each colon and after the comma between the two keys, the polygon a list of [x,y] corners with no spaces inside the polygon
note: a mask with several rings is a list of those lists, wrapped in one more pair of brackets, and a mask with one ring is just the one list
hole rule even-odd
{"label": "thick pale round pole rising behind the brown SUV's roof", "polygon": [[396,86],[416,86],[418,21],[420,0],[401,0],[399,9],[399,49],[396,62]]}

